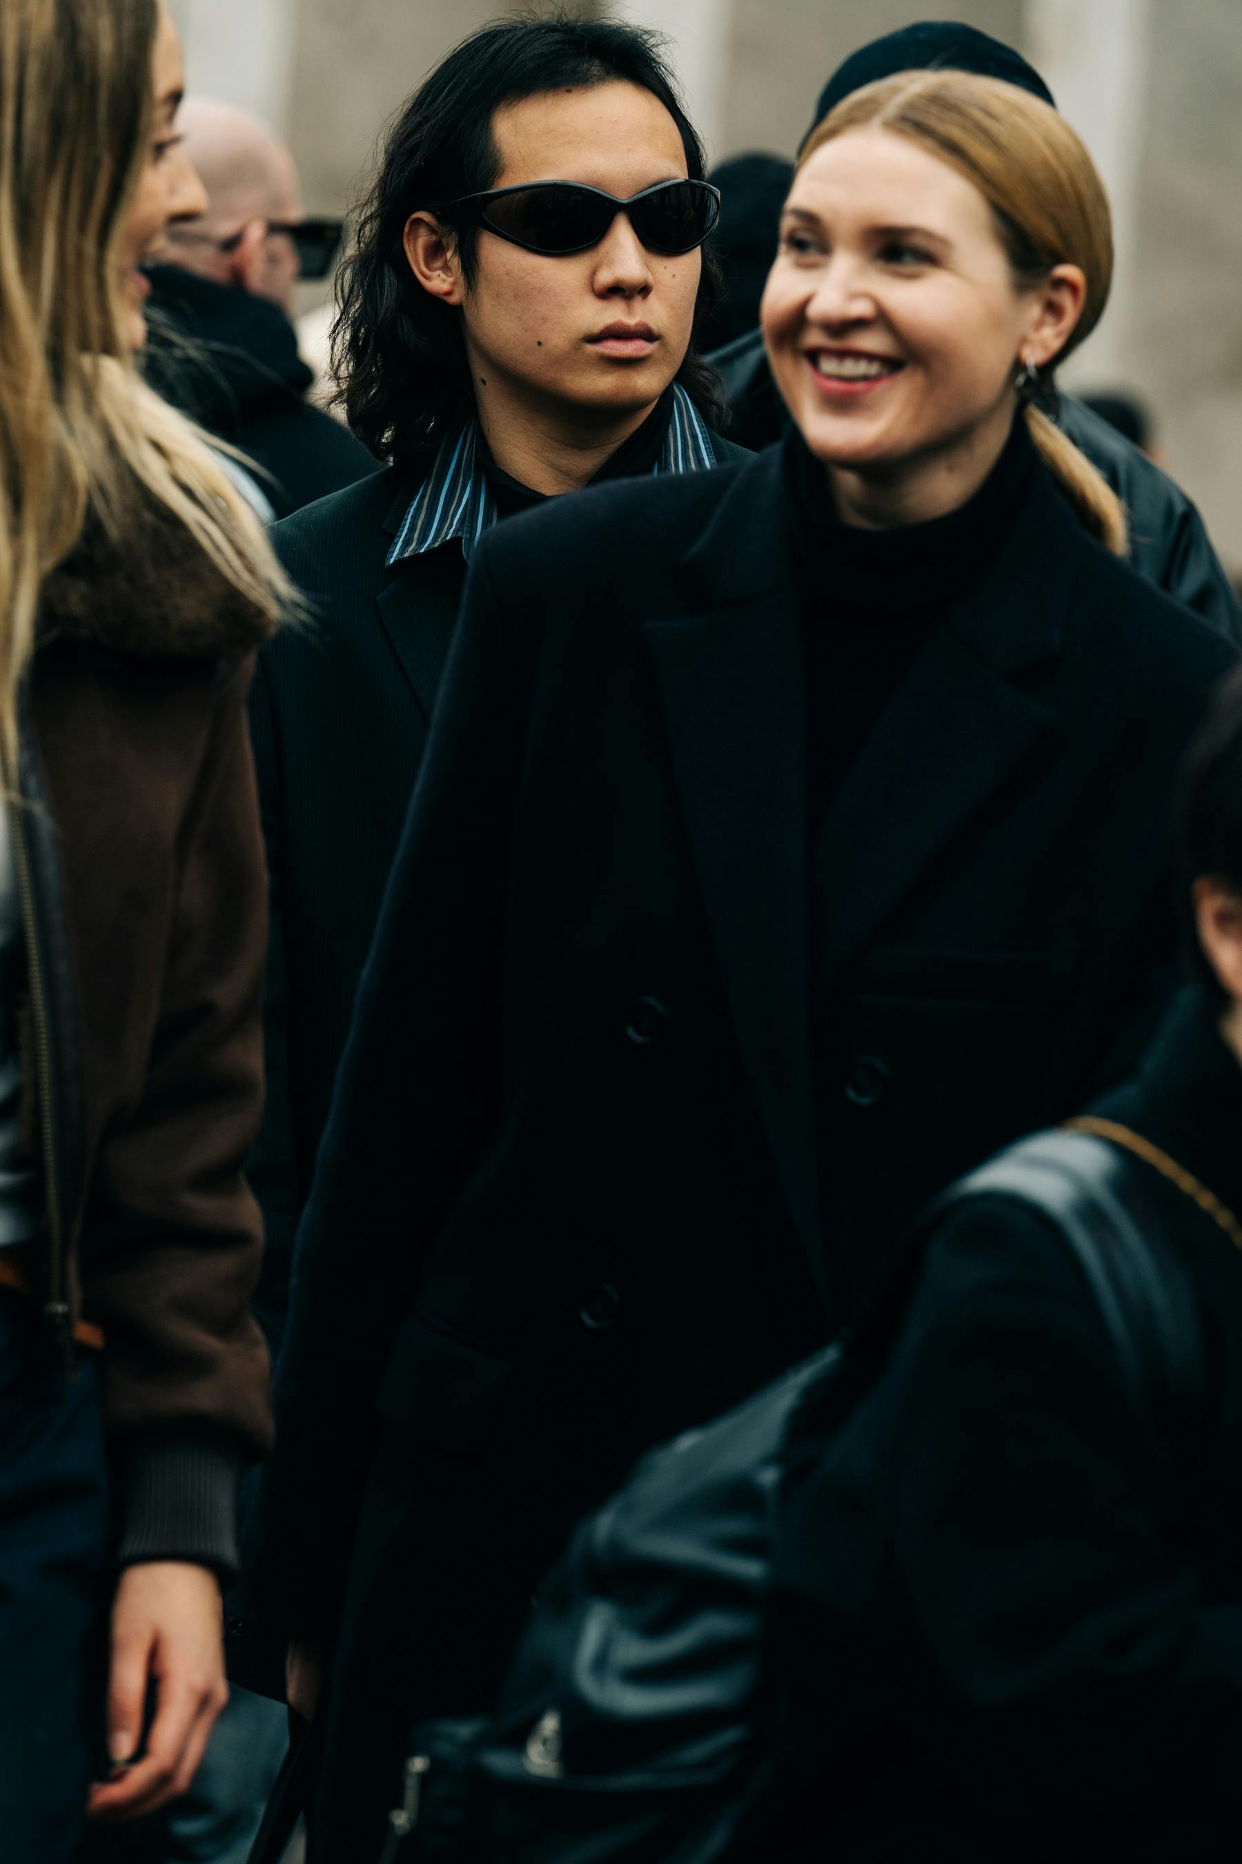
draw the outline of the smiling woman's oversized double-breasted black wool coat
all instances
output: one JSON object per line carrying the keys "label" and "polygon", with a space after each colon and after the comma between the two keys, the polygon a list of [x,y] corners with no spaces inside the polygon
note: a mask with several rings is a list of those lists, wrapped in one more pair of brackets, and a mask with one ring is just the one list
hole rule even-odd
{"label": "smiling woman's oversized double-breasted black wool coat", "polygon": [[879,1281],[1164,994],[1223,643],[1039,470],[808,863],[801,628],[776,455],[475,561],[300,1232],[255,1575],[339,1627],[341,1817],[417,1711],[480,1706],[631,1460],[819,1344],[842,1264]]}

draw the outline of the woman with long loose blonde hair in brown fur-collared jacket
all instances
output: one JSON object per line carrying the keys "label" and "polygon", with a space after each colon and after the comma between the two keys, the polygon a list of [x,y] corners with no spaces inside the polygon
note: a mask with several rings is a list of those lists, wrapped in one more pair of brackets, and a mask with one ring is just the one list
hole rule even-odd
{"label": "woman with long loose blonde hair in brown fur-collared jacket", "polygon": [[203,209],[181,89],[156,0],[0,7],[0,1847],[39,1864],[91,1778],[101,1819],[190,1782],[268,1439],[244,706],[285,587],[136,369]]}

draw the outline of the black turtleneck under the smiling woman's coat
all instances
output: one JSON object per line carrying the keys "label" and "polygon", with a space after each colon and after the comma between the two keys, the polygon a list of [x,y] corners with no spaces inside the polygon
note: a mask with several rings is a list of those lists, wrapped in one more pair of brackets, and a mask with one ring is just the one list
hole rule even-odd
{"label": "black turtleneck under the smiling woman's coat", "polygon": [[814,835],[929,628],[981,582],[1013,529],[1039,457],[1024,419],[979,490],[929,524],[866,531],[832,509],[797,427],[782,442],[803,604],[808,828]]}

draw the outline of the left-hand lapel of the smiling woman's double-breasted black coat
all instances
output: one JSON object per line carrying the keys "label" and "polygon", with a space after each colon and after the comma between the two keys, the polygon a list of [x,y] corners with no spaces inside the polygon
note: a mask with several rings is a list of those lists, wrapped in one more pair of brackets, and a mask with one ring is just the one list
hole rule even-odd
{"label": "left-hand lapel of the smiling woman's double-breasted black coat", "polygon": [[[747,481],[752,498],[754,468]],[[719,537],[728,535],[734,500],[730,494],[713,520]],[[771,552],[765,559],[771,565]],[[756,587],[754,565],[747,569],[750,574],[734,583],[741,600],[650,621],[646,636],[743,1072],[791,1228],[823,1286],[810,1098],[801,630],[788,591]]]}

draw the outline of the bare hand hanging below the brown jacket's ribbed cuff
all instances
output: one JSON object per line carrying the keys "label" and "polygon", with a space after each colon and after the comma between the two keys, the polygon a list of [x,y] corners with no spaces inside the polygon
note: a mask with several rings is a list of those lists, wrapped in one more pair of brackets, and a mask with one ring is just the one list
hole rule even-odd
{"label": "bare hand hanging below the brown jacket's ribbed cuff", "polygon": [[[147,1689],[155,1719],[142,1745]],[[186,1791],[225,1702],[220,1584],[205,1566],[149,1560],[121,1573],[112,1607],[108,1754],[114,1776],[91,1786],[95,1819],[138,1819]]]}

